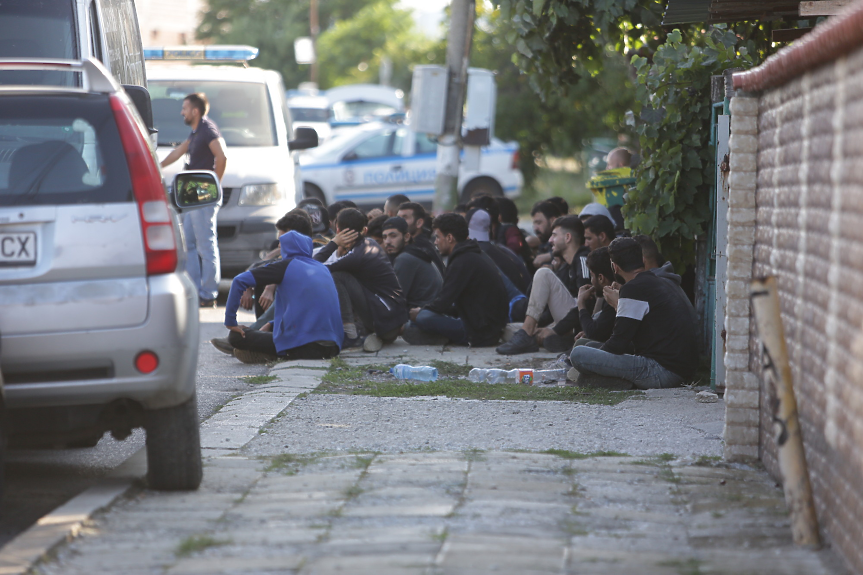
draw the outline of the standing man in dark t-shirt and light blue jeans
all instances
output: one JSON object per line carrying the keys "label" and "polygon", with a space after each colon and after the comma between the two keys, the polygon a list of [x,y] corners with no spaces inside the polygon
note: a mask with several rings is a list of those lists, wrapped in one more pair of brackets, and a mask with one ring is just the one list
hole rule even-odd
{"label": "standing man in dark t-shirt and light blue jeans", "polygon": [[[219,180],[225,175],[228,163],[225,140],[219,128],[209,117],[210,103],[203,93],[189,94],[183,100],[180,114],[183,122],[192,128],[185,142],[171,150],[162,167],[169,166],[183,155],[189,154],[188,170],[212,170]],[[198,289],[201,307],[215,307],[219,295],[221,270],[219,245],[216,239],[216,215],[219,206],[210,206],[183,214],[183,232],[186,236],[186,271]]]}

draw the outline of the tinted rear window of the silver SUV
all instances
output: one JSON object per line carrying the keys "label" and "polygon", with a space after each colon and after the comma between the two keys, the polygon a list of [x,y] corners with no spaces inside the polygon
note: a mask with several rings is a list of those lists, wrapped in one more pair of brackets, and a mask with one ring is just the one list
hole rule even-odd
{"label": "tinted rear window of the silver SUV", "polygon": [[0,206],[131,199],[107,96],[0,98]]}

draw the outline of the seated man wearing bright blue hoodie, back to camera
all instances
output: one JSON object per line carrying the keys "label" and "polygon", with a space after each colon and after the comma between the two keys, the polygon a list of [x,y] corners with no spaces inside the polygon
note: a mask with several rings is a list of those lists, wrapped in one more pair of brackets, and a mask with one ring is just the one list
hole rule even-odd
{"label": "seated man wearing bright blue hoodie, back to camera", "polygon": [[[339,295],[329,270],[312,259],[308,216],[289,213],[277,226],[282,259],[234,278],[225,304],[225,327],[234,356],[244,363],[335,357],[344,340]],[[237,325],[240,297],[249,287],[276,284],[275,317],[260,331]]]}

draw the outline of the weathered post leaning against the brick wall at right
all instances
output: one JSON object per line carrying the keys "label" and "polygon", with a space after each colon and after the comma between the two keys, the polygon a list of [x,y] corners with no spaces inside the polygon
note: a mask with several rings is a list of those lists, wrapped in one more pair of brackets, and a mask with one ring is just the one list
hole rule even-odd
{"label": "weathered post leaning against the brick wall at right", "polygon": [[794,543],[819,547],[821,537],[818,533],[818,518],[812,501],[777,292],[775,277],[752,282],[750,296],[764,352],[761,375],[770,385],[773,396],[770,400],[773,433],[779,448],[779,470],[782,473],[785,501],[791,510]]}

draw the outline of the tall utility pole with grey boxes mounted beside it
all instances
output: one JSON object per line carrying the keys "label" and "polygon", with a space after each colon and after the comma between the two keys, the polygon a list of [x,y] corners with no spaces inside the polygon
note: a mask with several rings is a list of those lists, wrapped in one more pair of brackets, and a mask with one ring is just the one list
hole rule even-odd
{"label": "tall utility pole with grey boxes mounted beside it", "polygon": [[440,213],[458,203],[458,167],[461,152],[461,122],[467,87],[467,67],[476,18],[475,0],[452,0],[446,45],[449,72],[444,133],[438,138],[437,176],[432,210]]}

